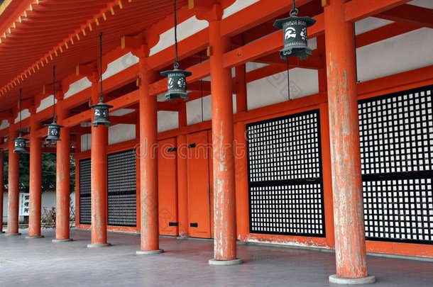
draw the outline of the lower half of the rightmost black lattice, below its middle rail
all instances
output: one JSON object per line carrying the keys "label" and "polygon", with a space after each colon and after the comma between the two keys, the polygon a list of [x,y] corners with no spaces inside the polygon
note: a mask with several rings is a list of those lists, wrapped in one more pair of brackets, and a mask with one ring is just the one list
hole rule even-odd
{"label": "lower half of the rightmost black lattice, below its middle rail", "polygon": [[363,197],[369,240],[433,242],[432,179],[366,181]]}

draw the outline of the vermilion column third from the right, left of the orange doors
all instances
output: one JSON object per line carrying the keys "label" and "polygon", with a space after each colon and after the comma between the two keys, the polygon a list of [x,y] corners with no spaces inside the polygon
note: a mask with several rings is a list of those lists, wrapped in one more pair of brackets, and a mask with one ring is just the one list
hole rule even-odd
{"label": "vermilion column third from the right, left of the orange doors", "polygon": [[146,67],[146,58],[138,62],[140,85],[140,203],[141,250],[137,254],[156,254],[159,248],[158,228],[158,122],[156,97],[150,96],[149,84],[156,75]]}

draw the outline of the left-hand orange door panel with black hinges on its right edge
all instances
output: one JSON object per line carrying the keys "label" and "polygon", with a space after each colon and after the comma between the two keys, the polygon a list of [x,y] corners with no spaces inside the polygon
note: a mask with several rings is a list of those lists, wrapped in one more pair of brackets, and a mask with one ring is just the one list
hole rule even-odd
{"label": "left-hand orange door panel with black hinges on its right edge", "polygon": [[176,139],[158,142],[158,206],[160,235],[177,236]]}

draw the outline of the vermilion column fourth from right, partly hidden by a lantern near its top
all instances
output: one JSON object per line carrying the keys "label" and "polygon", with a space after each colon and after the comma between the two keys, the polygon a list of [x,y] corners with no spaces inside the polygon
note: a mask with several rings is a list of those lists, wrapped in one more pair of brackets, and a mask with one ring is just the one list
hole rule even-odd
{"label": "vermilion column fourth from right, partly hidden by a lantern near its top", "polygon": [[[92,82],[92,104],[99,103],[99,83]],[[93,111],[93,110],[92,110]],[[92,122],[94,114],[92,113]],[[91,196],[92,196],[92,243],[87,247],[107,247],[106,241],[107,213],[107,177],[106,146],[108,145],[108,128],[105,125],[92,125],[91,141]]]}

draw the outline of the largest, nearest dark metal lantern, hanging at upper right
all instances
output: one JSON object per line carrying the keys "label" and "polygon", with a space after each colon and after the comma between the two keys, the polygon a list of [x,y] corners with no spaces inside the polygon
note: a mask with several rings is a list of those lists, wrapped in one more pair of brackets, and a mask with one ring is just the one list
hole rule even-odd
{"label": "largest, nearest dark metal lantern, hanging at upper right", "polygon": [[292,56],[305,60],[312,55],[312,50],[307,47],[307,28],[316,21],[309,17],[297,17],[298,12],[293,1],[290,17],[279,19],[273,24],[275,28],[283,30],[284,48],[280,50],[280,57],[283,60]]}

